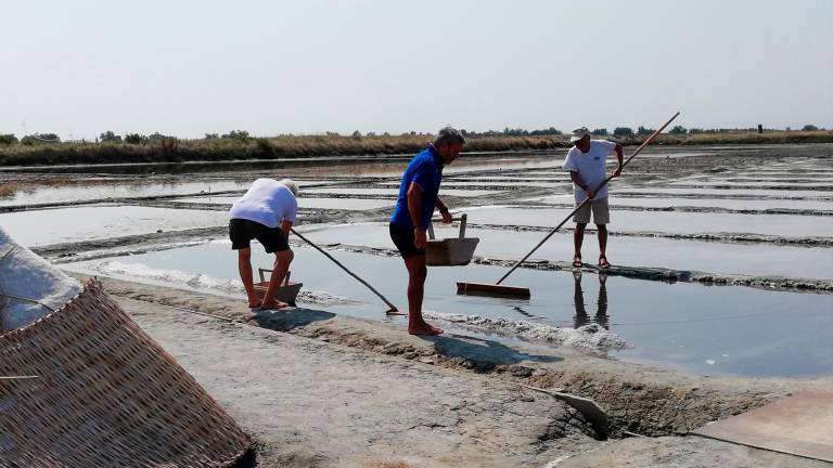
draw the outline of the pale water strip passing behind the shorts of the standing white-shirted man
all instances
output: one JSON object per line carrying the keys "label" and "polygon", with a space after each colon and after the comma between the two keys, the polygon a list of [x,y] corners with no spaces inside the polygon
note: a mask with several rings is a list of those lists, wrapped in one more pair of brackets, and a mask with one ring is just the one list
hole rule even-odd
{"label": "pale water strip passing behind the shorts of the standing white-shirted man", "polygon": [[[554,227],[569,212],[569,208],[478,209],[469,212],[469,222]],[[573,225],[573,222],[569,221],[567,226],[572,227]],[[648,231],[670,234],[727,232],[787,237],[833,237],[833,217],[621,210],[611,213],[610,229],[617,232]]]}

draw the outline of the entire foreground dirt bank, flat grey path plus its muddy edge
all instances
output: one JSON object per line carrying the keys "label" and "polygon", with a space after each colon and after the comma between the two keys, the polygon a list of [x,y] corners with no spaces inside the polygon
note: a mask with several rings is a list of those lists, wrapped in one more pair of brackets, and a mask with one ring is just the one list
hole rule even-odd
{"label": "entire foreground dirt bank, flat grey path plus its muddy edge", "polygon": [[253,314],[223,297],[104,283],[255,435],[258,467],[829,466],[697,437],[598,441],[580,414],[516,385],[595,399],[618,437],[684,434],[800,388],[831,389],[829,379],[688,376],[460,336],[422,340],[325,311]]}

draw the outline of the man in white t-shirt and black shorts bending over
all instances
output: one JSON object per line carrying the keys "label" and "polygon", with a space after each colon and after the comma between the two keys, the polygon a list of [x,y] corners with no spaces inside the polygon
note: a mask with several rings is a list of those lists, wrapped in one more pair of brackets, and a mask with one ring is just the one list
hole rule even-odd
{"label": "man in white t-shirt and black shorts bending over", "polygon": [[[229,237],[232,250],[238,251],[238,268],[243,287],[248,296],[248,307],[281,309],[289,306],[274,299],[274,291],[283,282],[295,255],[290,249],[290,227],[298,213],[298,186],[290,179],[280,181],[258,179],[252,187],[231,206]],[[269,286],[260,301],[252,280],[252,248],[257,239],[267,253],[274,252],[274,265]]]}

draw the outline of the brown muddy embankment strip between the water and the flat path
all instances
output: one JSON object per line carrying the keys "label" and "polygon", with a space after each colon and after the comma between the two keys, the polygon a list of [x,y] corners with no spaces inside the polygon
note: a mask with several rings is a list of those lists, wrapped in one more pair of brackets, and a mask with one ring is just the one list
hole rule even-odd
{"label": "brown muddy embankment strip between the water and the flat path", "polygon": [[453,335],[421,339],[390,325],[322,310],[253,311],[241,299],[110,278],[103,282],[106,290],[117,297],[172,307],[183,313],[208,314],[517,385],[562,389],[602,406],[608,416],[610,435],[614,438],[626,432],[652,437],[687,433],[800,388],[831,384],[692,376],[569,351],[515,349]]}

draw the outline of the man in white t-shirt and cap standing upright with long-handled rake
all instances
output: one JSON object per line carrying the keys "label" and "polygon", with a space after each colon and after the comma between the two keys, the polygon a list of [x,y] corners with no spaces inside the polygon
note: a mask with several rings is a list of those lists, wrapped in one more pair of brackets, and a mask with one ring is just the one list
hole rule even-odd
{"label": "man in white t-shirt and cap standing upright with long-handled rake", "polygon": [[599,231],[599,266],[606,269],[611,265],[607,261],[607,224],[611,222],[611,211],[607,206],[607,185],[599,186],[607,179],[607,156],[616,153],[619,166],[613,172],[613,177],[621,174],[623,154],[621,145],[605,140],[590,140],[587,127],[573,130],[569,139],[575,146],[569,148],[564,159],[564,169],[569,171],[573,180],[573,195],[576,206],[590,197],[590,202],[579,209],[573,217],[576,223],[576,232],[573,242],[576,247],[573,257],[573,266],[581,268],[581,243],[585,239],[585,227],[590,222],[590,212],[593,213],[593,222]]}

